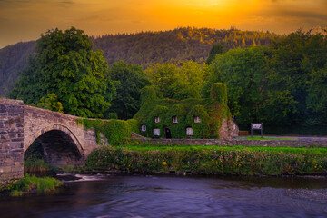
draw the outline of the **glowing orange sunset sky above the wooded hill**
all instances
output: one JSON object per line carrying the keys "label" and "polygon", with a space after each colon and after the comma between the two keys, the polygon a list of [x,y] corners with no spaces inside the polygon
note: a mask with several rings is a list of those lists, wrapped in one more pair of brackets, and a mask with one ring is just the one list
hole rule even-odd
{"label": "glowing orange sunset sky above the wooded hill", "polygon": [[327,0],[0,0],[0,48],[71,26],[94,36],[183,26],[288,34],[327,27]]}

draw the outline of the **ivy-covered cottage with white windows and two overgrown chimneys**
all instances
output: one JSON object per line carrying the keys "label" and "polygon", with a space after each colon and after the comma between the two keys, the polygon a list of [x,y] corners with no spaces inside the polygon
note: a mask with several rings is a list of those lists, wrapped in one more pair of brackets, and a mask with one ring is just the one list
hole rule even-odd
{"label": "ivy-covered cottage with white windows and two overgrown chimneys", "polygon": [[213,84],[210,98],[163,99],[152,86],[144,87],[141,98],[142,105],[134,119],[145,137],[226,139],[238,135],[238,126],[227,106],[225,84]]}

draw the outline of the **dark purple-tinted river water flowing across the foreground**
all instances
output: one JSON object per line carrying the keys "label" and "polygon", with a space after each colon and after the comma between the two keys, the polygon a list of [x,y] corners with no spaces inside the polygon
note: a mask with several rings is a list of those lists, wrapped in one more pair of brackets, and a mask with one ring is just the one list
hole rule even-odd
{"label": "dark purple-tinted river water flowing across the foreground", "polygon": [[81,177],[52,196],[2,198],[0,217],[327,217],[323,178]]}

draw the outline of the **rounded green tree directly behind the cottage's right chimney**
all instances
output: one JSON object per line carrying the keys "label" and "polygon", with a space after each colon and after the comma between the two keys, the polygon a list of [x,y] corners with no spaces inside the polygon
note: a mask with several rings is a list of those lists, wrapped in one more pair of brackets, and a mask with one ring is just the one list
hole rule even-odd
{"label": "rounded green tree directly behind the cottage's right chimney", "polygon": [[228,106],[238,116],[238,124],[262,122],[261,107],[265,95],[265,56],[267,47],[236,48],[218,55],[210,65],[212,74],[203,85],[203,95],[210,94],[211,85],[227,85]]}

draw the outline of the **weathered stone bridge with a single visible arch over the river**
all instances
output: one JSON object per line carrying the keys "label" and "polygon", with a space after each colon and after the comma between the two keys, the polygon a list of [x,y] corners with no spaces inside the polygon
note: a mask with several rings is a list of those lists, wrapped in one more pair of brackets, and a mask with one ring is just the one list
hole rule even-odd
{"label": "weathered stone bridge with a single visible arch over the river", "polygon": [[0,185],[24,176],[24,153],[35,140],[47,163],[83,164],[98,145],[94,130],[84,130],[78,118],[0,98]]}

